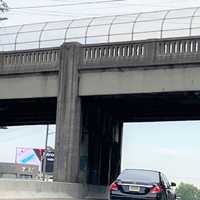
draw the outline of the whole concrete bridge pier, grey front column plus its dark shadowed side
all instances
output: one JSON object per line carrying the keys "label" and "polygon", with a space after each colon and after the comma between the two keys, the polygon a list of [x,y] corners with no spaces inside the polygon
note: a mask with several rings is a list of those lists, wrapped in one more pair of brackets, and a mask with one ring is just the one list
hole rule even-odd
{"label": "whole concrete bridge pier, grey front column plus its dark shadowed side", "polygon": [[122,122],[100,101],[79,97],[81,45],[61,47],[55,180],[108,185],[120,171]]}

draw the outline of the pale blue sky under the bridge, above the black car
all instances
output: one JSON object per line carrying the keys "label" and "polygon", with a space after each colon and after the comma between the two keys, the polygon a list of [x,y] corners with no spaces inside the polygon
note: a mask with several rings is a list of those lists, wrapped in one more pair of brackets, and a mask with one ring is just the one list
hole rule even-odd
{"label": "pale blue sky under the bridge, above the black car", "polygon": [[200,186],[200,121],[124,124],[122,169],[160,170]]}

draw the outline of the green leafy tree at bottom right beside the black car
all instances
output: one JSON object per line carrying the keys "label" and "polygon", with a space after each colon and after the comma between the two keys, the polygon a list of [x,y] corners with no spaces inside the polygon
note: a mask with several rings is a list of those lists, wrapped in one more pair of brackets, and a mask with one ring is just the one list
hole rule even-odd
{"label": "green leafy tree at bottom right beside the black car", "polygon": [[200,200],[200,190],[191,184],[181,183],[176,189],[176,194],[181,200]]}

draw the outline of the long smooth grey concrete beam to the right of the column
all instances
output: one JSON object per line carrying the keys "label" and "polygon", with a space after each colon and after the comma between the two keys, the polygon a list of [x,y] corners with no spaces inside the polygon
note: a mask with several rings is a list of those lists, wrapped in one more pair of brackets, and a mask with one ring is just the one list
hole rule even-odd
{"label": "long smooth grey concrete beam to the right of the column", "polygon": [[199,66],[82,71],[79,95],[196,91],[199,77]]}

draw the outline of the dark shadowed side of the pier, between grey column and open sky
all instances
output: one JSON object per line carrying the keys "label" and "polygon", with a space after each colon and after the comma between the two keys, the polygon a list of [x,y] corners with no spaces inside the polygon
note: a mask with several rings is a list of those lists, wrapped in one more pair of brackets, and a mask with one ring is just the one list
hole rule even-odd
{"label": "dark shadowed side of the pier, between grey column and open sky", "polygon": [[123,123],[98,101],[86,98],[83,127],[88,134],[88,178],[93,185],[109,185],[119,174]]}

